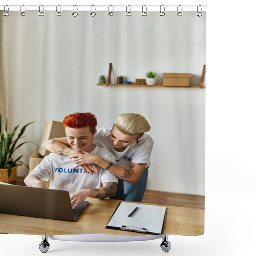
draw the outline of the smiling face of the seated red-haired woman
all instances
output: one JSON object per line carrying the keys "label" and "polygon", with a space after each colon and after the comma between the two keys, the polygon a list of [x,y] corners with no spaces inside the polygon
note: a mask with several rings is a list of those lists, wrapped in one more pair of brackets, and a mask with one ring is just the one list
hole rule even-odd
{"label": "smiling face of the seated red-haired woman", "polygon": [[92,138],[96,131],[92,134],[90,127],[70,128],[65,127],[68,144],[76,151],[91,152],[95,146],[92,144]]}

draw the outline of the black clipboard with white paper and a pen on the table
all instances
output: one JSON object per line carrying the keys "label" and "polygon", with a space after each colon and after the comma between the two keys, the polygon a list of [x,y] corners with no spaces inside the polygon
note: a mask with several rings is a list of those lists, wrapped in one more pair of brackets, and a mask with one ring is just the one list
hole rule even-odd
{"label": "black clipboard with white paper and a pen on the table", "polygon": [[[137,211],[128,217],[136,207]],[[164,206],[120,202],[106,228],[160,235],[165,212]]]}

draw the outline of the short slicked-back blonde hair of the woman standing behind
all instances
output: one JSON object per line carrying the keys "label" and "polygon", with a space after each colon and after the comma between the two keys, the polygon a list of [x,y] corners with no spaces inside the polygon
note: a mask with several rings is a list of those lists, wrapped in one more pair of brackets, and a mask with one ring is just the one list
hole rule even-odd
{"label": "short slicked-back blonde hair of the woman standing behind", "polygon": [[115,126],[126,134],[143,134],[151,128],[144,116],[134,113],[124,113],[116,116]]}

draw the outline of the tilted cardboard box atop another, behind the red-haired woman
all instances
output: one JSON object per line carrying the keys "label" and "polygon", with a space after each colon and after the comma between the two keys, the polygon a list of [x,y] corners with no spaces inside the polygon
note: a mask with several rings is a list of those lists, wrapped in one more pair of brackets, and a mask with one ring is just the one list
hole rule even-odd
{"label": "tilted cardboard box atop another, behind the red-haired woman", "polygon": [[51,140],[54,138],[66,137],[65,128],[62,122],[57,121],[46,121],[44,125],[44,132],[41,138],[40,147],[38,153],[41,156],[47,156],[50,154],[45,148],[42,148],[44,141]]}

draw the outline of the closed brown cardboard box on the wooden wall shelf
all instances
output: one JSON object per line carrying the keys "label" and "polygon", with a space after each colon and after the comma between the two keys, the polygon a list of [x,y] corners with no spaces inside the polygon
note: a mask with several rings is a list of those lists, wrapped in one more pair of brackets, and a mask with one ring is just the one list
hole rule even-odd
{"label": "closed brown cardboard box on the wooden wall shelf", "polygon": [[163,73],[164,86],[189,86],[189,73]]}

